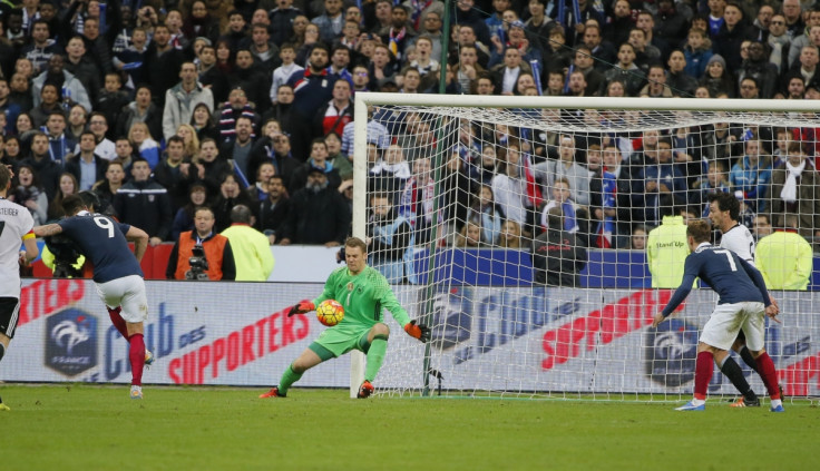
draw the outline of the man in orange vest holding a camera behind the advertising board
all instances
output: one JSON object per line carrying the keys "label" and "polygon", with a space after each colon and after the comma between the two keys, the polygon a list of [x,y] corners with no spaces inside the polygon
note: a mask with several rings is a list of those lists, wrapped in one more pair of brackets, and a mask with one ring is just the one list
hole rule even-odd
{"label": "man in orange vest holding a camera behind the advertising board", "polygon": [[235,279],[236,265],[227,237],[214,233],[214,212],[201,206],[194,213],[196,230],[179,234],[168,257],[168,279]]}

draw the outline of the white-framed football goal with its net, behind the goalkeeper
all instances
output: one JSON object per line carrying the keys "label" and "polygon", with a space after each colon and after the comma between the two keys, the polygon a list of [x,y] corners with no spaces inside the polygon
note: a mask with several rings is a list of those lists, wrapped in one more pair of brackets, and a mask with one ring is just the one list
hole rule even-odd
{"label": "white-framed football goal with its net, behind the goalkeeper", "polygon": [[[422,345],[385,315],[377,392],[690,396],[715,294],[699,285],[650,324],[689,251],[671,226],[707,218],[710,196],[729,193],[758,243],[800,236],[764,244],[756,263],[783,313],[767,326],[781,383],[818,395],[812,105],[357,94],[353,234],[411,318],[432,327]],[[719,369],[710,394],[736,394]]]}

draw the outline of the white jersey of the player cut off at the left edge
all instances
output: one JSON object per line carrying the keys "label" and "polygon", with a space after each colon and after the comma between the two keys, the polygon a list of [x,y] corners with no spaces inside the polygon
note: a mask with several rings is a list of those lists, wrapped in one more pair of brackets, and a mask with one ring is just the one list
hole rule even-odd
{"label": "white jersey of the player cut off at the left edge", "polygon": [[33,227],[28,209],[0,197],[0,297],[20,297],[20,247]]}

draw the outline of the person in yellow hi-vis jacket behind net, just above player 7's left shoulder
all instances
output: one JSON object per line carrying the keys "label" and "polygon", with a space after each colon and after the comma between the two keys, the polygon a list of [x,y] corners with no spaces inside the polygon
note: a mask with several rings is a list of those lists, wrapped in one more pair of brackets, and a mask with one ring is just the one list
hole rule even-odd
{"label": "person in yellow hi-vis jacket behind net, just above player 7's left shoulder", "polygon": [[[664,198],[664,203],[671,203]],[[650,230],[646,243],[646,263],[652,274],[653,288],[676,288],[683,281],[684,259],[689,255],[686,225],[682,216],[673,216],[671,204],[661,205],[662,224]]]}

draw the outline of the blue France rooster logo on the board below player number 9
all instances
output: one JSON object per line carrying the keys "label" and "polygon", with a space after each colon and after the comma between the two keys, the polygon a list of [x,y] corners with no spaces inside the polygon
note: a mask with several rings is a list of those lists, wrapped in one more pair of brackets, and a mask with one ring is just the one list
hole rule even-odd
{"label": "blue France rooster logo on the board below player number 9", "polygon": [[97,366],[97,317],[76,308],[46,322],[46,366],[76,376]]}

